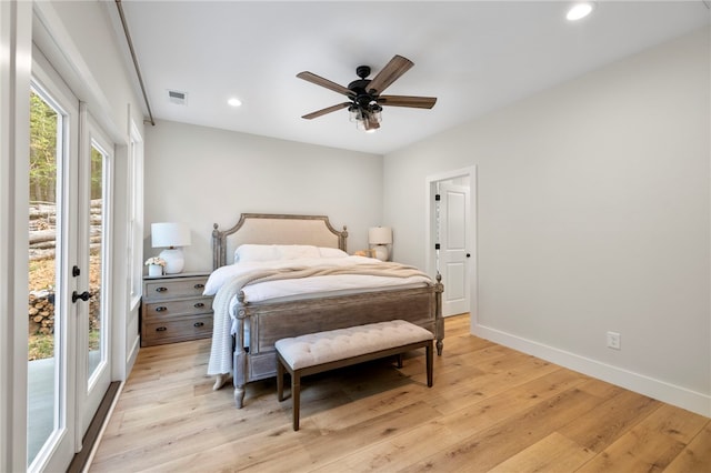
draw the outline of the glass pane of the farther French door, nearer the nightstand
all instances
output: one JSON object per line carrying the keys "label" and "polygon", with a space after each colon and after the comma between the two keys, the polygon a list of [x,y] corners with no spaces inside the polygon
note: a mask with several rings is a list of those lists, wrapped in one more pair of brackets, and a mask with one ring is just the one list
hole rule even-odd
{"label": "glass pane of the farther French door, nearer the nightstand", "polygon": [[103,280],[103,234],[104,234],[104,159],[106,153],[96,142],[91,144],[91,189],[89,211],[89,336],[88,336],[88,379],[91,379],[102,362],[106,353],[106,311],[101,298]]}

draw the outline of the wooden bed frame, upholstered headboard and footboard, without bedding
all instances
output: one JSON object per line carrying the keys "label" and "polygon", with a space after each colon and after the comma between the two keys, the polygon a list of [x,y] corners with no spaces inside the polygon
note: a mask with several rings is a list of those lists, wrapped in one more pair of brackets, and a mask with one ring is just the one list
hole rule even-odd
{"label": "wooden bed frame, upholstered headboard and footboard, without bedding", "polygon": [[[242,213],[229,230],[220,231],[217,223],[213,225],[213,269],[227,264],[228,258],[231,262],[240,244],[312,244],[346,251],[347,236],[346,227],[338,231],[323,215]],[[437,352],[441,354],[442,291],[438,275],[431,286],[242,304],[233,338],[232,382],[237,407],[243,405],[247,383],[277,375],[274,343],[279,339],[401,319],[431,331]],[[250,335],[248,348],[244,348],[246,330]],[[216,388],[221,383],[218,380]]]}

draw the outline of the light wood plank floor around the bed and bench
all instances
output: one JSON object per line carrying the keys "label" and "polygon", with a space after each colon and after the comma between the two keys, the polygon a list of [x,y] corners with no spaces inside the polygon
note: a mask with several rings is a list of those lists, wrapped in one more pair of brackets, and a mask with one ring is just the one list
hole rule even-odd
{"label": "light wood plank floor around the bed and bench", "polygon": [[211,390],[209,340],[142,349],[91,472],[711,472],[711,421],[469,334],[307,378],[301,430],[276,381]]}

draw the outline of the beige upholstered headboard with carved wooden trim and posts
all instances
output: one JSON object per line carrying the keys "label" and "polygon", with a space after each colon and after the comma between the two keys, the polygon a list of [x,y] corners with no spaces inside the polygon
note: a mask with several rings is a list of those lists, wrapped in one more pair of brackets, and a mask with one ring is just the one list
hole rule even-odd
{"label": "beige upholstered headboard with carved wooden trim and posts", "polygon": [[229,230],[212,229],[212,269],[228,263],[240,244],[312,244],[346,251],[348,231],[331,227],[324,215],[242,213]]}

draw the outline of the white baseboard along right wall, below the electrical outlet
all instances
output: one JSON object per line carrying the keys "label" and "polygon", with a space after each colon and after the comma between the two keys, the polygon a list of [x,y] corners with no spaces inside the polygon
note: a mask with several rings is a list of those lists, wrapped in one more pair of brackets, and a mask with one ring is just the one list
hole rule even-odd
{"label": "white baseboard along right wall, below the electrical outlet", "polygon": [[694,392],[640,373],[533,342],[518,335],[512,335],[497,329],[472,325],[472,334],[668,404],[711,417],[711,395],[709,394]]}

